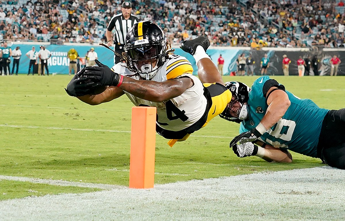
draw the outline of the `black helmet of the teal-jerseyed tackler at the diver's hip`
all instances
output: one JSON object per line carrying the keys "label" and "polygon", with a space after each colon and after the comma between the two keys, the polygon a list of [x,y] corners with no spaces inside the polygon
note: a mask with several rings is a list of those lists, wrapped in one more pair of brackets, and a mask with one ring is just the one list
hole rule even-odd
{"label": "black helmet of the teal-jerseyed tackler at the diver's hip", "polygon": [[[231,91],[233,99],[231,99],[225,110],[219,114],[219,116],[228,121],[240,123],[248,117],[247,102],[250,88],[246,84],[237,81],[226,82],[225,87]],[[241,107],[236,111],[237,117],[235,117],[231,115],[231,109],[237,101],[240,103]]]}

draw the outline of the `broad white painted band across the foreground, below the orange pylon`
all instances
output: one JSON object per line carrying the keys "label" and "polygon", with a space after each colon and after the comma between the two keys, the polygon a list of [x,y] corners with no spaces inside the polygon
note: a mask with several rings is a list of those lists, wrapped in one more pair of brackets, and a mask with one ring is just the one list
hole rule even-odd
{"label": "broad white painted band across the foreground, below the orange pylon", "polygon": [[0,220],[344,220],[345,170],[330,167],[0,201]]}

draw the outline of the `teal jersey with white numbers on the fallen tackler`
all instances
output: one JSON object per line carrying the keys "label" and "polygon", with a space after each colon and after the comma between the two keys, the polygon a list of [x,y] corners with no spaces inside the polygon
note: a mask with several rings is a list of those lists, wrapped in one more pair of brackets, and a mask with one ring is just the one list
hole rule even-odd
{"label": "teal jersey with white numbers on the fallen tackler", "polygon": [[[254,81],[249,92],[248,119],[242,121],[240,133],[255,128],[264,117],[268,105],[263,94],[268,76]],[[273,147],[317,157],[317,143],[322,121],[329,111],[319,108],[312,100],[300,99],[286,91],[291,102],[283,118],[264,133],[259,140]]]}

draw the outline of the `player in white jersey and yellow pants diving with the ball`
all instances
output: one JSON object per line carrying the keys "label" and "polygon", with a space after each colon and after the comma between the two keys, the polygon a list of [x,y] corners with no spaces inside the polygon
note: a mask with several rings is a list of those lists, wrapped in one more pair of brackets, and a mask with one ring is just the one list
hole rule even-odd
{"label": "player in white jersey and yellow pants diving with the ball", "polygon": [[135,106],[156,107],[156,131],[172,146],[205,127],[231,100],[231,92],[205,52],[209,45],[206,38],[199,38],[182,46],[191,54],[200,51],[194,56],[198,67],[202,64],[199,80],[185,57],[169,54],[173,50],[163,31],[150,21],[140,21],[127,33],[125,63],[110,69],[96,60],[98,66],[80,70],[66,91],[91,105],[126,94]]}

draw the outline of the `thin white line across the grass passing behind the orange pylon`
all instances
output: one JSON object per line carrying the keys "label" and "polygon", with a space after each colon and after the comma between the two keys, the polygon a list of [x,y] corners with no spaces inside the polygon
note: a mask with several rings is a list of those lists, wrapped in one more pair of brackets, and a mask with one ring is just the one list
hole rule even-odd
{"label": "thin white line across the grass passing behind the orange pylon", "polygon": [[[0,127],[130,133],[130,131],[123,131],[123,130],[101,130],[101,129],[83,129],[83,128],[60,128],[60,127],[41,127],[41,126],[24,126],[24,125],[8,125],[8,124],[0,124]],[[191,135],[191,137],[224,138],[224,139],[229,139],[229,140],[232,139],[232,137],[220,137],[220,136],[208,136],[208,135],[203,135],[203,136],[202,136],[202,135],[193,135],[193,134]]]}

